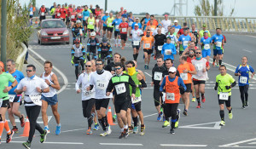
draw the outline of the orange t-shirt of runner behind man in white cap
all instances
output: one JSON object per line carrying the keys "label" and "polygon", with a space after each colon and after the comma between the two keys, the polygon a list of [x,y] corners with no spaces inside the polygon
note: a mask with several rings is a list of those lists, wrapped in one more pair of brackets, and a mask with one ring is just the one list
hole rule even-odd
{"label": "orange t-shirt of runner behind man in white cap", "polygon": [[186,83],[192,83],[192,75],[190,73],[183,73],[183,70],[187,70],[189,72],[195,71],[195,66],[193,66],[191,63],[185,62],[184,64],[180,64],[177,66],[177,71],[179,72],[180,77],[182,77],[183,82]]}

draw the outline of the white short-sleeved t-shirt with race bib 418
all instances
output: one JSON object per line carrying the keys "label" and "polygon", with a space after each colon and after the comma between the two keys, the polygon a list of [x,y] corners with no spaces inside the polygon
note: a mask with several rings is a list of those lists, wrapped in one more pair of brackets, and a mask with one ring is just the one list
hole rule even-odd
{"label": "white short-sleeved t-shirt with race bib 418", "polygon": [[95,99],[102,100],[105,98],[113,98],[113,94],[109,96],[106,95],[106,90],[111,77],[112,74],[108,71],[104,71],[101,75],[97,74],[97,72],[91,74],[90,85],[93,85],[93,88],[95,89]]}

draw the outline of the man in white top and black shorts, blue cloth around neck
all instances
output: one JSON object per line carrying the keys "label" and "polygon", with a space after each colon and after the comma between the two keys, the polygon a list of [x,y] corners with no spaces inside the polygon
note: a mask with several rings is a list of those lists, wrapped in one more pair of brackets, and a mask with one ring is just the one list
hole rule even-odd
{"label": "man in white top and black shorts, blue cloth around neck", "polygon": [[[195,66],[196,74],[192,75],[193,84],[195,89],[195,97],[198,103],[196,108],[201,108],[201,102],[204,103],[206,101],[205,97],[205,87],[206,81],[208,80],[208,71],[210,69],[209,61],[201,55],[201,49],[195,50],[195,59],[191,60],[192,64]],[[200,102],[200,94],[201,94],[201,102]]]}

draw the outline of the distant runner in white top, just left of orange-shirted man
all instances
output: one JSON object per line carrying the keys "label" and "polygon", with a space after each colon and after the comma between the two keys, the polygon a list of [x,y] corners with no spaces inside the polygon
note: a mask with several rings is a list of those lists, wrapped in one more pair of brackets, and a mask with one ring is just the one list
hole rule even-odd
{"label": "distant runner in white top, just left of orange-shirted man", "polygon": [[133,49],[133,60],[137,60],[139,49],[141,47],[141,38],[143,37],[143,31],[139,29],[139,26],[135,24],[135,29],[131,30],[130,38],[132,40],[131,45]]}

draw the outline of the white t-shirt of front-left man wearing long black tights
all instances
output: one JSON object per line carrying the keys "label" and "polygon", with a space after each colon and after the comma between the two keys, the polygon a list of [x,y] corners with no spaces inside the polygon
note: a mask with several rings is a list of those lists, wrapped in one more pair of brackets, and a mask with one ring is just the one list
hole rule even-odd
{"label": "white t-shirt of front-left man wearing long black tights", "polygon": [[[44,82],[44,80],[38,76],[33,77],[32,79],[30,77],[23,78],[20,83],[17,86],[17,89],[23,89],[23,87],[26,86],[26,91],[24,92],[25,97],[24,100],[26,102],[32,102],[29,96],[27,95],[41,95],[41,93],[38,92],[36,89],[37,87],[40,89],[46,89],[48,88],[48,84]],[[25,104],[25,106],[35,106],[35,104]],[[40,105],[39,105],[40,106]],[[42,106],[42,101],[41,101]]]}

